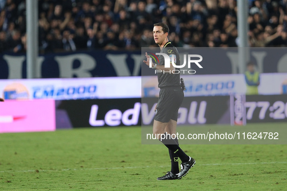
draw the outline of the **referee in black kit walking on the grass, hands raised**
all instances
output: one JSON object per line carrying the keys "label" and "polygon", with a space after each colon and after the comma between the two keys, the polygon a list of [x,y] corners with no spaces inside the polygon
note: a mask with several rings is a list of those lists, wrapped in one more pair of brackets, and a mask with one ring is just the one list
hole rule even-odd
{"label": "referee in black kit walking on the grass, hands raised", "polygon": [[[187,156],[179,147],[178,139],[172,139],[170,136],[176,134],[178,110],[183,102],[184,93],[180,86],[180,74],[173,74],[171,72],[175,70],[175,67],[171,64],[172,55],[174,59],[173,63],[176,65],[180,65],[180,59],[178,50],[171,45],[168,35],[168,25],[164,23],[156,23],[153,25],[154,42],[160,47],[160,53],[165,53],[169,55],[170,58],[169,68],[165,67],[165,59],[162,55],[158,56],[159,64],[152,63],[153,69],[162,71],[157,72],[160,92],[153,121],[153,134],[161,135],[160,141],[169,148],[169,157],[171,160],[171,170],[166,175],[158,177],[157,180],[181,179],[195,164],[195,160]],[[144,63],[149,65],[151,58],[147,53],[146,57],[147,61],[144,61]],[[179,171],[178,168],[178,159],[182,161],[181,171]]]}

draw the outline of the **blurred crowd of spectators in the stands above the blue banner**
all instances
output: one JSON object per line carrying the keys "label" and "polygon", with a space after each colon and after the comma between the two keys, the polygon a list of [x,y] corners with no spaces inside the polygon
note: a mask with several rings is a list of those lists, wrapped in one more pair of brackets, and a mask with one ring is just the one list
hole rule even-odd
{"label": "blurred crowd of spectators in the stands above the blue banner", "polygon": [[[236,47],[236,0],[39,0],[41,53],[155,46],[153,23],[177,47]],[[25,0],[0,0],[0,52],[26,50]],[[250,47],[287,46],[287,0],[249,0]]]}

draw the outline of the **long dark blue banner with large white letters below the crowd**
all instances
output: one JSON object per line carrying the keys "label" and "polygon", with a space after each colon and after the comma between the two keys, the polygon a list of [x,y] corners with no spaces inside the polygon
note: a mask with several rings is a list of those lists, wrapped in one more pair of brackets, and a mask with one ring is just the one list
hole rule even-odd
{"label": "long dark blue banner with large white letters below the crowd", "polygon": [[[203,68],[196,74],[238,74],[237,48],[193,48]],[[40,54],[35,78],[152,76],[141,51],[94,50]],[[287,72],[287,48],[250,48],[250,60],[260,73]],[[145,67],[144,67],[145,66]],[[0,79],[25,79],[26,55],[0,54]]]}

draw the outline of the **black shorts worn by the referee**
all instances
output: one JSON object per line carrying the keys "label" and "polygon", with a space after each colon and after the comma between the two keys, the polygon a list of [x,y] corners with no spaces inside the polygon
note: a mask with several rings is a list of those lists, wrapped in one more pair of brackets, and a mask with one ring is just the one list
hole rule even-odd
{"label": "black shorts worn by the referee", "polygon": [[183,100],[184,93],[180,87],[160,89],[154,120],[163,123],[168,123],[170,119],[177,121]]}

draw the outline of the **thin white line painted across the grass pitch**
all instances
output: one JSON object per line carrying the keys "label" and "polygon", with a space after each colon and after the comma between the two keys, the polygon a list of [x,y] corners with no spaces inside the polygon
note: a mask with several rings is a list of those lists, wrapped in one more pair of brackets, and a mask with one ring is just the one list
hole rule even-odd
{"label": "thin white line painted across the grass pitch", "polygon": [[[208,165],[247,165],[247,164],[275,164],[275,163],[287,163],[287,162],[246,162],[246,163],[213,163],[213,164],[197,164],[197,166]],[[131,168],[156,168],[156,167],[169,167],[169,166],[127,166],[127,167],[111,167],[111,168],[80,168],[80,169],[50,169],[50,170],[23,170],[23,171],[0,171],[0,173],[26,173],[26,172],[51,172],[51,171],[80,171],[80,170],[109,170],[109,169],[131,169]]]}

